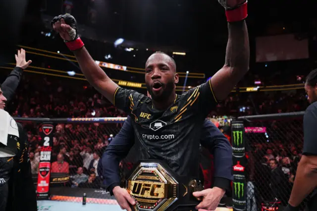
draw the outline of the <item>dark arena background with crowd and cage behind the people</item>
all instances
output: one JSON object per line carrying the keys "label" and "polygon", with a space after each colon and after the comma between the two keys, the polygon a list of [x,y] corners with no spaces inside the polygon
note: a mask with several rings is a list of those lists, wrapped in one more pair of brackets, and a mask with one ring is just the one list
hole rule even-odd
{"label": "dark arena background with crowd and cage behind the people", "polygon": [[[250,70],[208,117],[233,149],[232,190],[217,211],[241,202],[245,211],[287,205],[303,149],[305,76],[317,68],[316,8],[308,0],[248,4]],[[5,110],[27,131],[38,210],[119,211],[101,158],[127,114],[90,86],[53,31],[52,18],[65,13],[76,17],[87,50],[115,83],[147,94],[145,62],[162,51],[176,61],[182,94],[222,67],[224,10],[217,0],[1,0],[0,83],[17,50],[32,60]],[[203,152],[212,186],[212,156]],[[132,148],[121,160],[122,179],[137,153]]]}

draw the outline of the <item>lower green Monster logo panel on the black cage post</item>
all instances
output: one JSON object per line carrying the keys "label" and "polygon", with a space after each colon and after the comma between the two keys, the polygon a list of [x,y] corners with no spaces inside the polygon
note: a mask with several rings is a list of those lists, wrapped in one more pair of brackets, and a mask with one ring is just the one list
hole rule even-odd
{"label": "lower green Monster logo panel on the black cage post", "polygon": [[246,179],[243,175],[233,175],[233,210],[246,210]]}

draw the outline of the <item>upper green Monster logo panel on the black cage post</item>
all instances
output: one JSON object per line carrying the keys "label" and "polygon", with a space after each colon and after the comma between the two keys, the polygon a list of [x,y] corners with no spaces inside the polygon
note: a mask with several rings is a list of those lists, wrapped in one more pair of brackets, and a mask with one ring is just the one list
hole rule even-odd
{"label": "upper green Monster logo panel on the black cage post", "polygon": [[237,158],[242,158],[245,156],[243,123],[233,122],[231,124],[231,131],[233,156]]}

